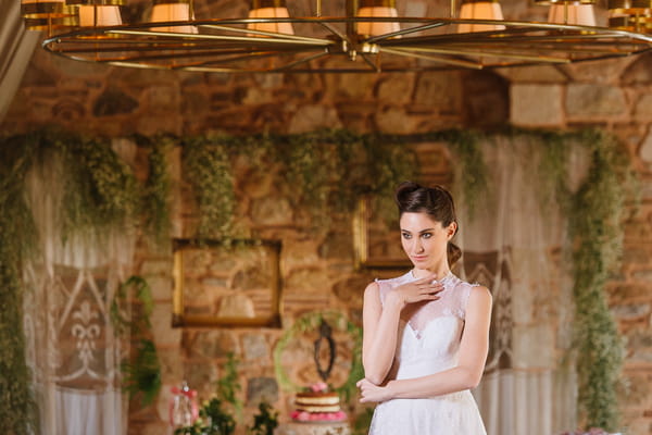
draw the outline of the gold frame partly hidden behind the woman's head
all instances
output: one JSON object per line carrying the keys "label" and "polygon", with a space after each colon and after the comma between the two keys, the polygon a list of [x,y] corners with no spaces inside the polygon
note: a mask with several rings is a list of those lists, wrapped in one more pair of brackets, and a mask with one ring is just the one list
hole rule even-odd
{"label": "gold frame partly hidden behind the woman's head", "polygon": [[[355,266],[361,269],[408,271],[412,263],[405,256],[399,235],[399,220],[390,215],[372,197],[361,197],[353,215]],[[393,210],[392,210],[393,212]],[[396,214],[396,213],[394,213]]]}

